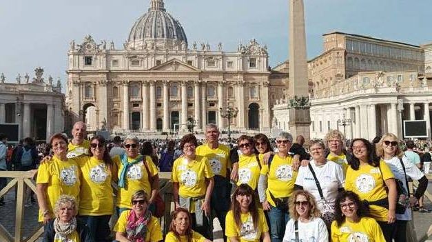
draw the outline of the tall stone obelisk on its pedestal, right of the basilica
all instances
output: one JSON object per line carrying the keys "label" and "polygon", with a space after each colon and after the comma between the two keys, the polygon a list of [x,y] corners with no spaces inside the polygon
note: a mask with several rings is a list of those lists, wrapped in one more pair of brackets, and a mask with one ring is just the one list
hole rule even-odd
{"label": "tall stone obelisk on its pedestal, right of the basilica", "polygon": [[[310,140],[309,85],[307,78],[305,7],[303,0],[289,0],[289,129],[294,138]],[[300,101],[301,100],[301,101]],[[294,101],[294,105],[293,102]]]}

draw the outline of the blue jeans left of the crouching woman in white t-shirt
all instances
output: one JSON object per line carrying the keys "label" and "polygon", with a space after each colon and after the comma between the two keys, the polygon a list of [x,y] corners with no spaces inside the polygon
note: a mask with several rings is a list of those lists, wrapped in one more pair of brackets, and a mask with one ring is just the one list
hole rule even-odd
{"label": "blue jeans left of the crouching woman in white t-shirt", "polygon": [[270,221],[270,239],[271,242],[280,242],[285,234],[285,228],[289,221],[288,210],[282,211],[270,205],[270,210],[267,212]]}

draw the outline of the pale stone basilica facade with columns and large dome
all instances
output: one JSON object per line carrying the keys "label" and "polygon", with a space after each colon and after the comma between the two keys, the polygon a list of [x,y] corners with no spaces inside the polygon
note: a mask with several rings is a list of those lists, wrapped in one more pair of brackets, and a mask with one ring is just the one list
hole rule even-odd
{"label": "pale stone basilica facade with columns and large dome", "polygon": [[238,109],[232,129],[269,130],[271,102],[285,84],[270,86],[266,46],[189,43],[162,0],[150,1],[128,36],[121,48],[90,35],[70,43],[67,105],[88,130],[168,132],[189,121],[196,131],[207,123],[225,129],[220,110],[228,107]]}

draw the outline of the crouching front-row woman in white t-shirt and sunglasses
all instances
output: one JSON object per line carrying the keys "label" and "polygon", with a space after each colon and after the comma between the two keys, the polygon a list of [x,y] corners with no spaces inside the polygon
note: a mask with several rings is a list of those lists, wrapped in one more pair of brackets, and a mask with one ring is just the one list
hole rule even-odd
{"label": "crouching front-row woman in white t-shirt and sunglasses", "polygon": [[320,210],[315,199],[309,192],[304,190],[293,192],[289,199],[289,215],[291,219],[285,228],[283,242],[329,241],[327,227],[320,218]]}

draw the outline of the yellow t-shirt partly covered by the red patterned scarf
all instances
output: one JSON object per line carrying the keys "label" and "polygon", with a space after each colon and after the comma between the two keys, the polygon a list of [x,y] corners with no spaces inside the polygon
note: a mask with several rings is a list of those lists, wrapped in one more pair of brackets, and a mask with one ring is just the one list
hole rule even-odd
{"label": "yellow t-shirt partly covered by the red patterned scarf", "polygon": [[[127,216],[129,216],[131,210],[123,211],[120,214],[119,220],[114,225],[115,232],[126,233]],[[145,234],[145,242],[158,242],[163,239],[161,225],[159,225],[158,219],[152,216],[150,222],[147,223],[147,234]]]}

